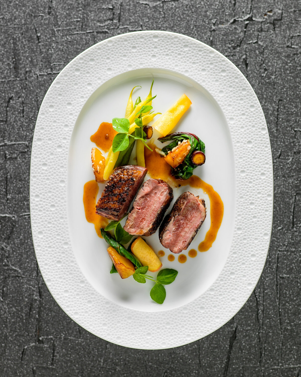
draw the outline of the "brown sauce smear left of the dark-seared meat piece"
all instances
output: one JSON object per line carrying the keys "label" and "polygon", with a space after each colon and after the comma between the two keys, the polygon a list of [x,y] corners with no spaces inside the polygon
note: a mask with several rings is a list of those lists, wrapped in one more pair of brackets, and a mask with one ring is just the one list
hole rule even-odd
{"label": "brown sauce smear left of the dark-seared meat piece", "polygon": [[100,234],[100,228],[105,228],[108,225],[108,220],[102,216],[96,215],[95,206],[96,206],[96,197],[99,187],[96,181],[88,181],[84,185],[84,208],[86,220],[94,224],[97,235],[102,238]]}

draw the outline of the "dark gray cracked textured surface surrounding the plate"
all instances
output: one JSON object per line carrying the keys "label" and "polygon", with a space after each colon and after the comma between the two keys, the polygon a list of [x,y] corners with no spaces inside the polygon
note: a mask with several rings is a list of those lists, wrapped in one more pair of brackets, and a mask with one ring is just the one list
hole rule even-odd
{"label": "dark gray cracked textured surface surrounding the plate", "polygon": [[[300,21],[292,0],[0,1],[1,377],[301,375]],[[143,351],[88,333],[50,295],[32,244],[29,166],[60,70],[98,41],[155,29],[209,44],[249,80],[268,123],[275,202],[265,269],[239,313],[197,342]]]}

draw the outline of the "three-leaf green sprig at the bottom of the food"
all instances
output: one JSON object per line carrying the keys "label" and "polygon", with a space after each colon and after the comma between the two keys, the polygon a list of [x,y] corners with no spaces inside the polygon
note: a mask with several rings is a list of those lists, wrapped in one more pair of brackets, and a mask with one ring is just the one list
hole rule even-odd
{"label": "three-leaf green sprig at the bottom of the food", "polygon": [[154,281],[155,285],[150,290],[150,297],[158,304],[162,304],[166,297],[164,285],[171,284],[178,275],[178,271],[172,268],[164,268],[164,270],[158,272],[157,280],[155,280],[152,276],[146,275],[147,270],[148,266],[139,267],[132,276],[138,283],[146,283],[146,279]]}

